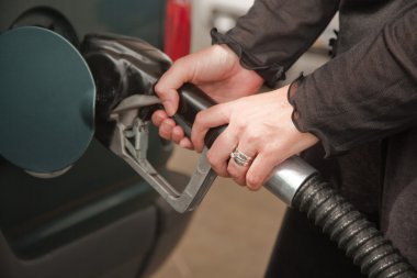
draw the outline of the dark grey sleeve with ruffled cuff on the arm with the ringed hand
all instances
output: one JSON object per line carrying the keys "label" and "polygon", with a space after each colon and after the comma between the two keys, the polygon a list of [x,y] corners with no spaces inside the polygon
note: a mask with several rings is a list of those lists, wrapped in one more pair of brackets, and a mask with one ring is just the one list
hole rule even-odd
{"label": "dark grey sleeve with ruffled cuff on the arm with the ringed hand", "polygon": [[327,156],[417,125],[417,3],[290,90],[293,121]]}

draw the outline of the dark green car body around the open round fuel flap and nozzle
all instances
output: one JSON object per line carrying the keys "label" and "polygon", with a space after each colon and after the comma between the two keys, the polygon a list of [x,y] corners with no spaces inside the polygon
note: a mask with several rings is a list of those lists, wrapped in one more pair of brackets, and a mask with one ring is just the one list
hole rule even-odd
{"label": "dark green car body around the open round fuel flap and nozzle", "polygon": [[[35,25],[59,33],[76,47],[86,34],[115,33],[162,48],[166,4],[0,0],[0,35]],[[153,130],[149,160],[173,184],[184,184],[185,176],[166,170],[172,147],[157,137]],[[68,173],[50,179],[33,177],[0,157],[0,277],[149,276],[190,216],[174,212],[95,140]]]}

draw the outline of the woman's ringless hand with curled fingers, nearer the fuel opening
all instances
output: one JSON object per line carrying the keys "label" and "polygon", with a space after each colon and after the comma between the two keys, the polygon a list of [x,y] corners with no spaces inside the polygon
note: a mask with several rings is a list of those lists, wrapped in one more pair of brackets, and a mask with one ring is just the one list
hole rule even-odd
{"label": "woman's ringless hand with curled fingers, nearer the fuel opening", "polygon": [[165,111],[156,111],[153,123],[159,127],[161,137],[193,148],[183,130],[170,119],[178,110],[177,90],[185,82],[198,86],[216,102],[227,102],[257,92],[263,79],[244,68],[239,57],[226,45],[213,45],[173,63],[155,86]]}

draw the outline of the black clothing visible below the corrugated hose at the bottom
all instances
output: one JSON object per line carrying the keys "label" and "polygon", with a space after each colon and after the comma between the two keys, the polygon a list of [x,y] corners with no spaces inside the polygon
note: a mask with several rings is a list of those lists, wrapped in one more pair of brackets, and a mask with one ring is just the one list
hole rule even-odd
{"label": "black clothing visible below the corrugated hose at the bottom", "polygon": [[364,277],[304,213],[286,211],[264,278]]}

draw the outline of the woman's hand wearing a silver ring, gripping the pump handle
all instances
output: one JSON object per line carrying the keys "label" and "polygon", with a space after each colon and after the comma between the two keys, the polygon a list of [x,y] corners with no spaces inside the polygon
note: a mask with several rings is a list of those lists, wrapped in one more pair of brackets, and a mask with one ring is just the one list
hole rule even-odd
{"label": "woman's hand wearing a silver ring, gripping the pump handle", "polygon": [[[280,163],[313,146],[318,138],[300,132],[293,124],[293,107],[288,86],[270,92],[244,97],[201,111],[194,121],[191,141],[198,152],[211,127],[228,124],[216,138],[207,158],[217,175],[233,177],[250,189],[259,189]],[[230,154],[238,149],[252,157],[248,165],[238,165]]]}

